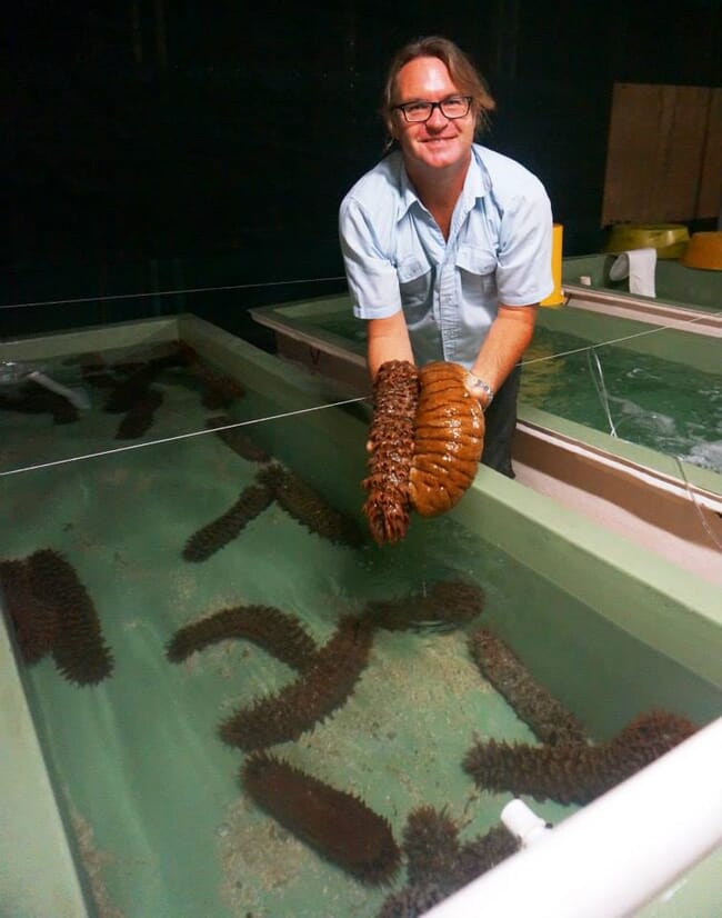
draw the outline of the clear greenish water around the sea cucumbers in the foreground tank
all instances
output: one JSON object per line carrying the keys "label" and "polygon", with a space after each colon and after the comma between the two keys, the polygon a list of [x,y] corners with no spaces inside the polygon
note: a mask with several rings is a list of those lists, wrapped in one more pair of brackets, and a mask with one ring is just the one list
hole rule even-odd
{"label": "clear greenish water around the sea cucumbers in the foreground tank", "polygon": [[[72,381],[72,367],[51,367],[53,378]],[[164,399],[146,439],[200,431],[217,413],[201,406],[197,382],[177,371],[157,385]],[[91,395],[93,408],[76,423],[3,412],[6,462],[121,447],[118,416],[100,410],[100,390]],[[230,413],[259,418],[278,409],[267,395],[249,391]],[[314,436],[310,418],[244,429],[360,517],[362,429],[348,450],[351,476]],[[220,740],[218,725],[238,706],[279,690],[293,672],[243,640],[169,662],[164,649],[176,630],[222,608],[274,606],[322,643],[340,616],[360,612],[371,599],[423,592],[442,578],[471,579],[485,595],[483,623],[593,736],[611,736],[651,707],[699,722],[719,710],[709,686],[449,517],[414,520],[398,546],[352,548],[320,538],[273,503],[207,561],[184,561],[190,535],[227,510],[258,468],[208,433],[0,479],[4,512],[13,520],[0,530],[0,558],[40,548],[62,552],[94,601],[114,658],[112,675],[96,687],[66,681],[50,658],[26,673],[100,916],[364,918],[389,892],[321,859],[243,794],[243,754]],[[484,832],[509,795],[479,791],[461,759],[477,735],[532,737],[470,660],[465,639],[473,625],[380,631],[351,698],[273,751],[358,795],[390,821],[398,840],[421,804],[448,807],[464,839]],[[534,807],[551,821],[573,809]],[[403,880],[401,872],[393,888]]]}

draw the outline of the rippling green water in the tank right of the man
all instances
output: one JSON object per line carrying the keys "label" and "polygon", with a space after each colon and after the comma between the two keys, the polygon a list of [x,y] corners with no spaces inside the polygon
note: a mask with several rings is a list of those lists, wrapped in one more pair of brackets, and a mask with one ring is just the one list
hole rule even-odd
{"label": "rippling green water in the tank right of the man", "polygon": [[722,373],[542,327],[523,362],[528,405],[722,471]]}

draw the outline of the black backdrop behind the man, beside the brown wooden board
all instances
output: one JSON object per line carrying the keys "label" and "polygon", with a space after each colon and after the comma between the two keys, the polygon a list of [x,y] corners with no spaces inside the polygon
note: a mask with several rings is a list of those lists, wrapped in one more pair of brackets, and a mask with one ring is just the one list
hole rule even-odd
{"label": "black backdrop behind the man, beside the brown wooden board", "polygon": [[243,333],[249,307],[343,289],[338,206],[381,154],[411,38],[474,59],[498,102],[484,142],[542,179],[564,255],[603,238],[613,83],[722,83],[720,0],[27,0],[4,19],[0,272],[20,308],[0,335],[181,309]]}

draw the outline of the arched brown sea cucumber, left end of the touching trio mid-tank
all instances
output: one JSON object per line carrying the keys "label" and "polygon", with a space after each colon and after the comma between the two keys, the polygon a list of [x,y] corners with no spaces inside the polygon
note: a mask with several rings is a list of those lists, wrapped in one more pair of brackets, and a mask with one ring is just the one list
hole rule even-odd
{"label": "arched brown sea cucumber, left end of the touching trio mid-tank", "polygon": [[243,638],[262,647],[299,672],[309,668],[318,648],[294,616],[272,606],[234,606],[179,628],[166,649],[171,662],[228,638]]}

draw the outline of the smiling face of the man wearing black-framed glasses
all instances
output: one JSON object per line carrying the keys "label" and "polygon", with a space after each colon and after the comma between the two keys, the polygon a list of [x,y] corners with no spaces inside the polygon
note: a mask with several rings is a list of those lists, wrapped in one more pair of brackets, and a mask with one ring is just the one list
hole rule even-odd
{"label": "smiling face of the man wearing black-framed glasses", "polygon": [[[441,102],[450,96],[459,96],[447,66],[439,58],[414,58],[397,77],[397,102]],[[410,124],[403,113],[394,112],[394,136],[399,141],[407,164],[415,169],[462,168],[469,162],[474,139],[474,114],[449,120],[435,108],[431,118]]]}

